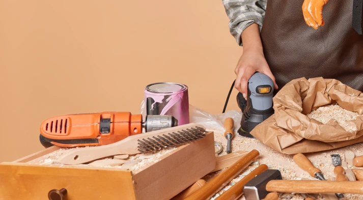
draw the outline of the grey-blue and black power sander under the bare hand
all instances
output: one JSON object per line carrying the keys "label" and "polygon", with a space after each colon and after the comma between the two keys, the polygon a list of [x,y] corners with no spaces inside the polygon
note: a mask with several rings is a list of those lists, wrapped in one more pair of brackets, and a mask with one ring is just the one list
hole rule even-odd
{"label": "grey-blue and black power sander under the bare hand", "polygon": [[274,84],[270,77],[263,73],[255,73],[247,85],[247,100],[241,93],[237,95],[237,103],[242,110],[241,128],[238,135],[255,138],[250,134],[258,124],[273,114]]}

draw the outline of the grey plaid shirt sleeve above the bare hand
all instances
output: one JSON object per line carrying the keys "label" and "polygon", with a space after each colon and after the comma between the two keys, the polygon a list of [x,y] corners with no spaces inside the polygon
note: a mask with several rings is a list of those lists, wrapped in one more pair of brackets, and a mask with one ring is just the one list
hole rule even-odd
{"label": "grey plaid shirt sleeve above the bare hand", "polygon": [[222,0],[230,18],[229,27],[238,45],[242,46],[241,34],[246,27],[257,23],[262,28],[267,0]]}

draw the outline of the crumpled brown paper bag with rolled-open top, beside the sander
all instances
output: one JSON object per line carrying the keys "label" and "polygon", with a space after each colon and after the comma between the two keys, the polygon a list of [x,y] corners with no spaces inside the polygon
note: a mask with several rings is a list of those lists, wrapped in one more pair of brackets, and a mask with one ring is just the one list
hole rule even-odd
{"label": "crumpled brown paper bag with rolled-open top, beside the sander", "polygon": [[348,132],[335,120],[323,124],[306,115],[327,104],[363,114],[363,94],[335,79],[299,78],[290,81],[273,98],[274,115],[250,134],[276,151],[286,154],[336,149],[363,141],[363,116],[347,122]]}

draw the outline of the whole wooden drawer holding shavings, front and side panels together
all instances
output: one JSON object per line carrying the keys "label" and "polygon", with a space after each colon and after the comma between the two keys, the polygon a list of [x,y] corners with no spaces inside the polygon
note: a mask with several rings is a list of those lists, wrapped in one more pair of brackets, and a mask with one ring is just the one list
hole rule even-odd
{"label": "whole wooden drawer holding shavings, front and side panels together", "polygon": [[213,132],[178,147],[137,173],[119,168],[27,163],[58,149],[54,146],[0,163],[0,199],[46,200],[50,190],[66,188],[67,200],[166,200],[215,167]]}

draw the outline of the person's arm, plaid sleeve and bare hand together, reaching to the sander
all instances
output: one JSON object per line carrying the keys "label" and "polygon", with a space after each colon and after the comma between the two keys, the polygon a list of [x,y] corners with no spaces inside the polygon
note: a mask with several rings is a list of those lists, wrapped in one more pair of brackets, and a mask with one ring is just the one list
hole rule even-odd
{"label": "person's arm, plaid sleeve and bare hand together, reaching to the sander", "polygon": [[231,34],[240,46],[243,44],[243,54],[235,69],[237,75],[235,88],[246,98],[248,79],[255,72],[261,72],[273,80],[277,89],[275,77],[263,54],[260,38],[267,0],[222,0],[222,2],[230,18]]}

